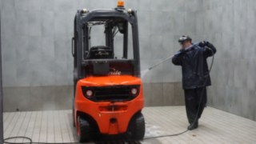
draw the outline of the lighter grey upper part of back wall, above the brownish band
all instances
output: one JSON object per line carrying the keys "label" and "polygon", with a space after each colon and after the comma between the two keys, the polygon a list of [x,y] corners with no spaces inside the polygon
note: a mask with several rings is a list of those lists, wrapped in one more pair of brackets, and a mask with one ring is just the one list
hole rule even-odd
{"label": "lighter grey upper part of back wall, above the brownish band", "polygon": [[[174,1],[166,5],[168,2],[142,0],[126,3],[127,7],[138,9],[142,70],[174,54],[179,49],[178,36],[194,28],[194,25],[184,24],[190,22],[187,12],[178,10]],[[3,66],[3,86],[60,86],[72,84],[70,39],[76,10],[84,7],[89,10],[113,8],[116,1],[4,0],[2,4],[3,59],[8,62]],[[178,5],[181,4],[178,2]],[[170,66],[158,67],[159,72],[166,71],[165,74],[168,74],[170,70],[174,74],[177,69]],[[56,70],[52,70],[53,67]],[[7,71],[10,69],[12,72]],[[177,82],[180,78],[165,77],[164,82]],[[147,82],[162,81],[162,76],[156,76]]]}

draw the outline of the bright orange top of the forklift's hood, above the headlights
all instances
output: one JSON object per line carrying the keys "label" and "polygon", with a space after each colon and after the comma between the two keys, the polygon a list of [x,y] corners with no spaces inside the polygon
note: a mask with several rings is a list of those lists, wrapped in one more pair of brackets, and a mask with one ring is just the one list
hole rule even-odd
{"label": "bright orange top of the forklift's hood, above the headlights", "polygon": [[86,86],[141,85],[141,79],[130,75],[91,76],[80,80]]}

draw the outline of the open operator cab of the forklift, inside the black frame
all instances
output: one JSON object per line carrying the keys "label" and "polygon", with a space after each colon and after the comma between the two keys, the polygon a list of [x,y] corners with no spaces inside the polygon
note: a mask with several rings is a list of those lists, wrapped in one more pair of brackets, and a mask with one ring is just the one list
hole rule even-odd
{"label": "open operator cab of the forklift, inside the black frame", "polygon": [[[93,13],[102,11],[91,11]],[[110,12],[113,12],[110,10]],[[95,17],[82,24],[81,76],[140,76],[138,31],[130,14],[122,17]],[[87,15],[90,17],[90,15]]]}

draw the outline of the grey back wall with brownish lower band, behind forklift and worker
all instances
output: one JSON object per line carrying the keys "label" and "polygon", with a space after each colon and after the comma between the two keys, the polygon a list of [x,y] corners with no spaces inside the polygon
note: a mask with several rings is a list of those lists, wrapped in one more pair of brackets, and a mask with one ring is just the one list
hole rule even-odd
{"label": "grey back wall with brownish lower band, behind forklift and worker", "polygon": [[[182,10],[193,4],[174,0],[126,1],[127,8],[138,10],[142,70],[174,54],[179,47],[178,37],[195,31],[194,25],[184,26],[184,22],[191,21],[190,11]],[[85,7],[91,10],[114,6],[116,0],[2,0],[4,110],[69,109],[74,14]],[[180,79],[180,68],[170,61],[150,71],[143,78],[146,106],[182,105]],[[68,92],[59,94],[60,89]],[[58,99],[65,99],[66,103]]]}

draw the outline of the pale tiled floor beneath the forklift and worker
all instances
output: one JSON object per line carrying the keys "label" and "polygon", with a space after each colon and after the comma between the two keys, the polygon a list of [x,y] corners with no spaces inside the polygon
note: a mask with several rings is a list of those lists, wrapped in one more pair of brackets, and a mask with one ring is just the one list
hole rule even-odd
{"label": "pale tiled floor beneath the forklift and worker", "polygon": [[[146,135],[142,143],[255,143],[256,122],[207,107],[197,130],[174,137],[188,125],[184,106],[146,107]],[[4,137],[26,136],[33,142],[78,142],[71,110],[4,113]],[[26,142],[16,139],[9,142]]]}

